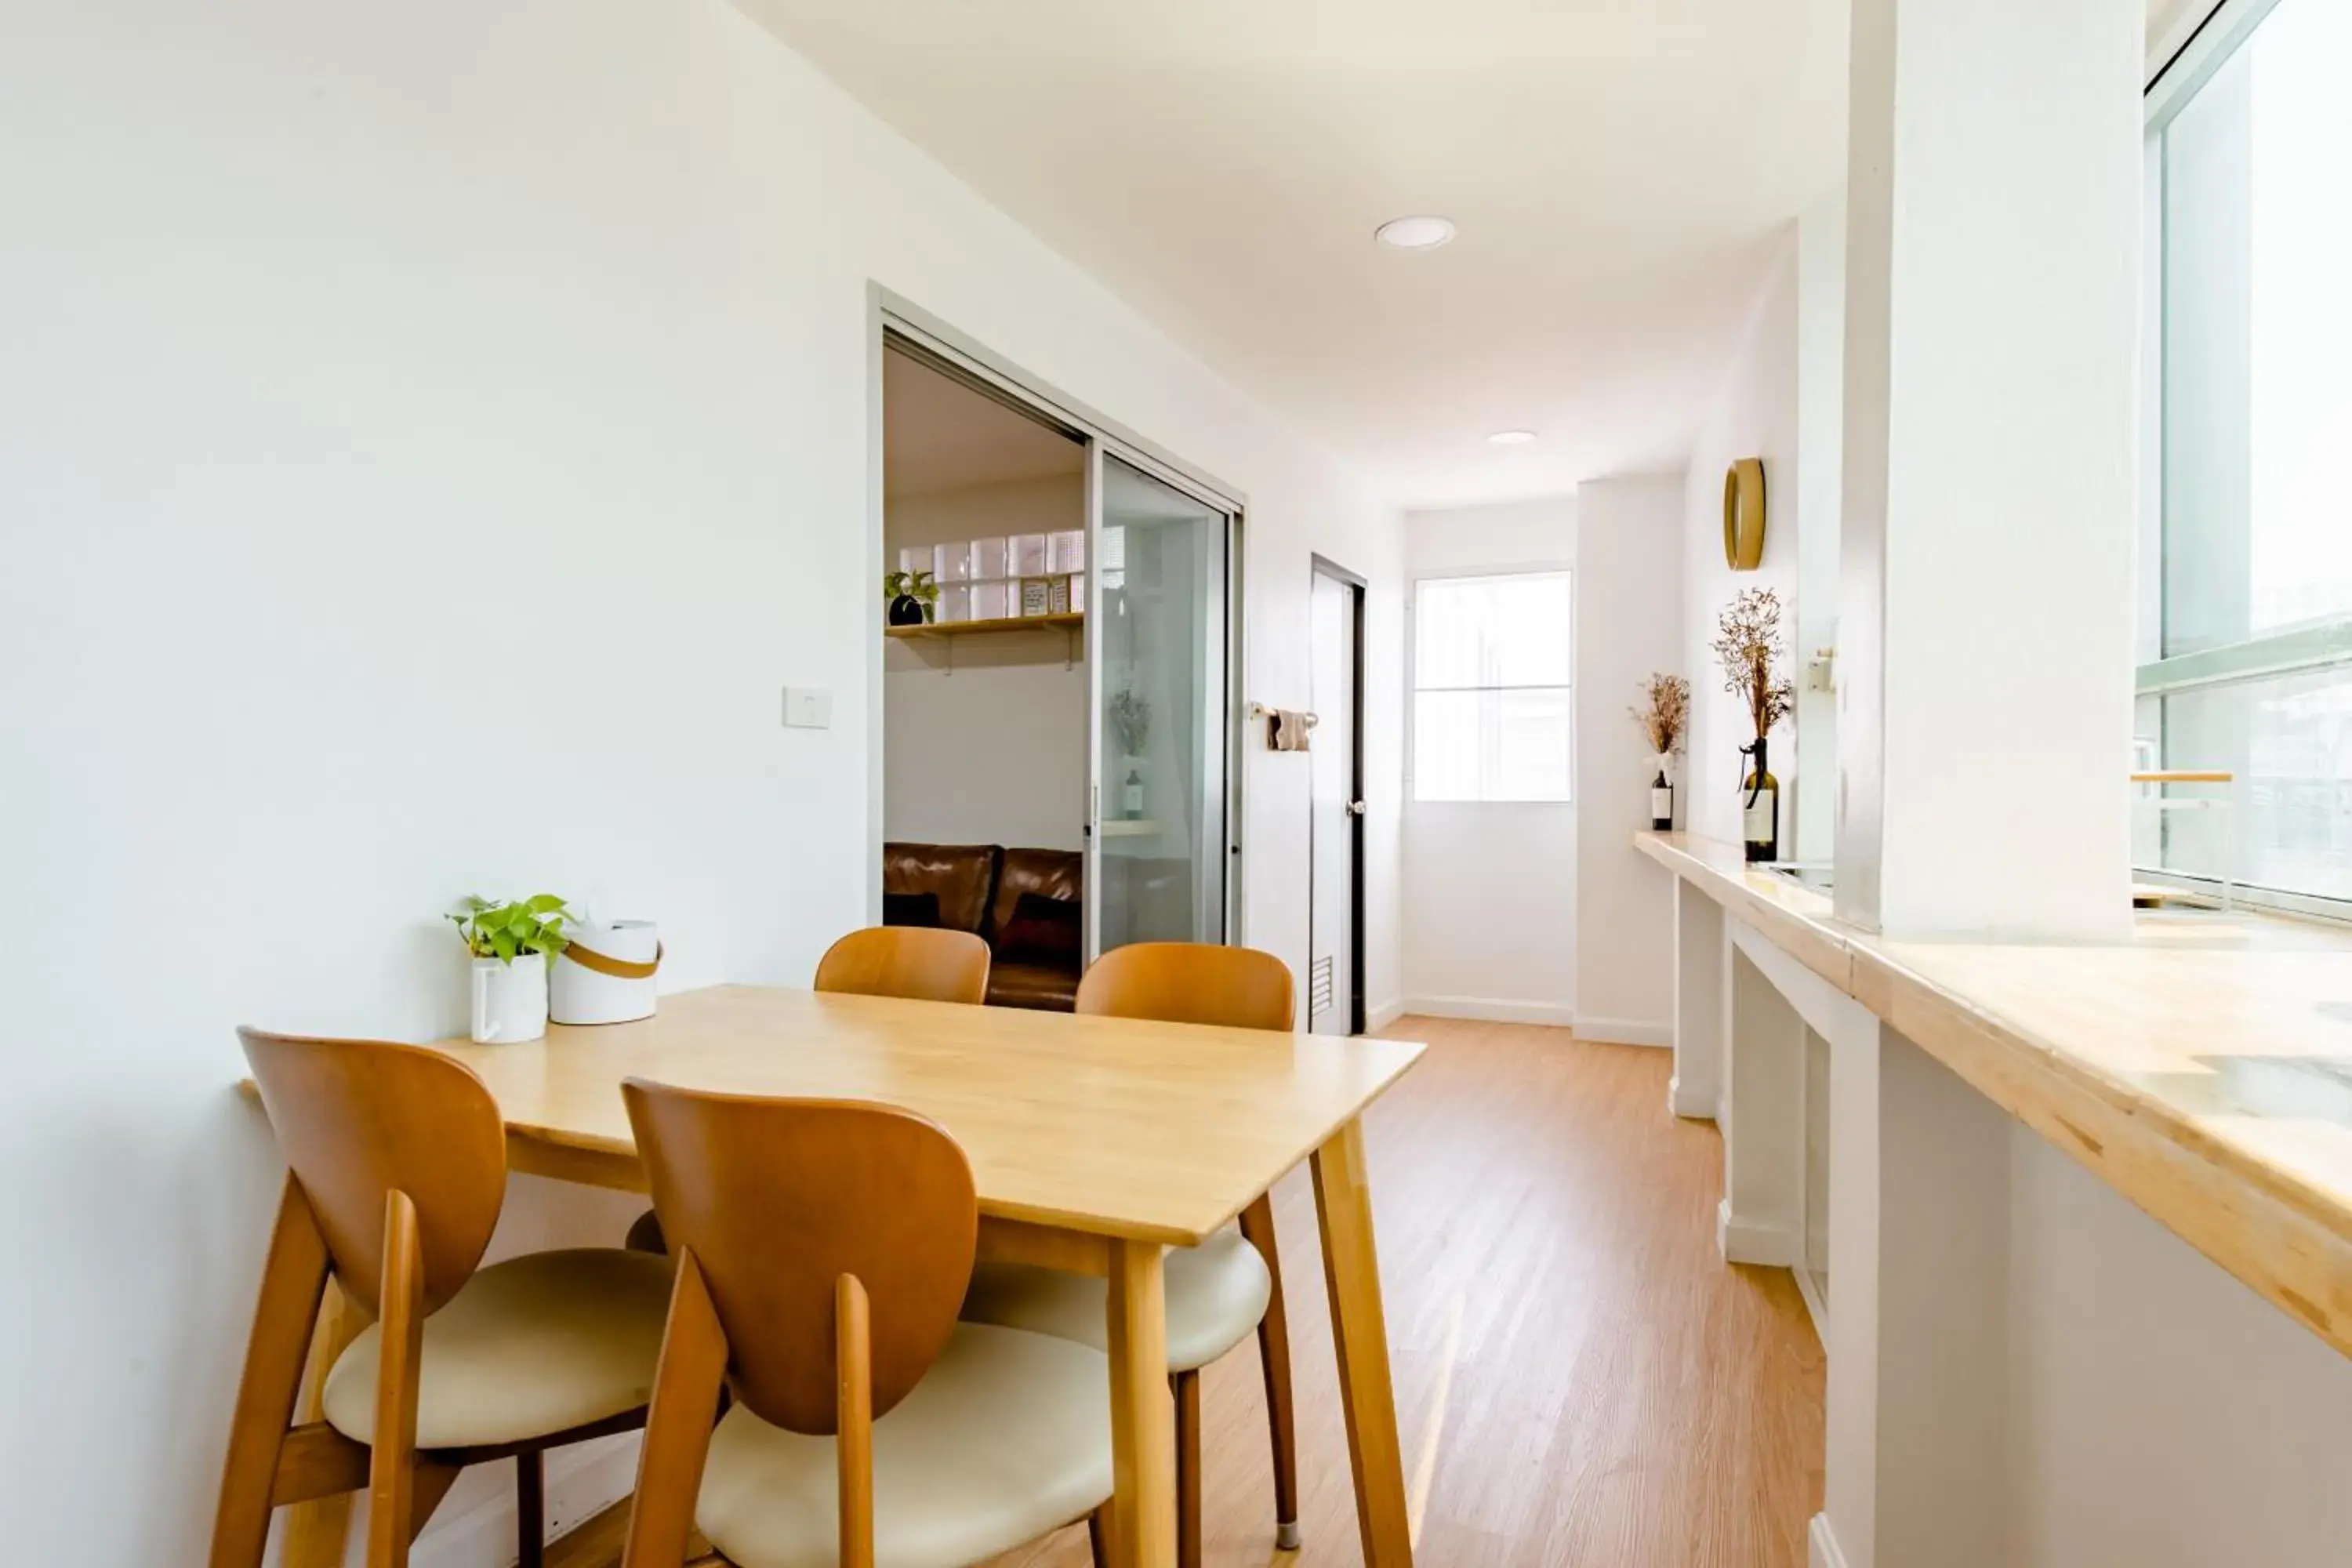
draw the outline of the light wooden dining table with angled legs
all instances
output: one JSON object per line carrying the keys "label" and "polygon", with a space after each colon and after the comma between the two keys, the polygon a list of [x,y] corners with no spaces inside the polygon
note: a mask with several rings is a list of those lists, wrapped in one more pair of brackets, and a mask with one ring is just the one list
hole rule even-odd
{"label": "light wooden dining table with angled legs", "polygon": [[[971,1159],[983,1260],[1110,1286],[1110,1535],[1129,1568],[1176,1563],[1162,1255],[1310,1164],[1364,1563],[1414,1561],[1362,1114],[1423,1046],[720,985],[663,997],[642,1023],[435,1048],[489,1084],[513,1171],[588,1187],[647,1190],[621,1105],[630,1077],[938,1121]],[[341,1563],[339,1526],[301,1542],[287,1568]]]}

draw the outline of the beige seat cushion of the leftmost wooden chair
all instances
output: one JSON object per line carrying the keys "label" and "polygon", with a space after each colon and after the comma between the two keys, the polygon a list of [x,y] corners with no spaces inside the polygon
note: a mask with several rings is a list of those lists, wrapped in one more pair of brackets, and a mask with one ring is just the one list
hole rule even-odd
{"label": "beige seat cushion of the leftmost wooden chair", "polygon": [[[520,1443],[642,1406],[668,1309],[668,1258],[574,1248],[489,1265],[426,1319],[416,1446]],[[362,1443],[376,1425],[376,1356],[369,1326],[320,1399],[327,1422]]]}

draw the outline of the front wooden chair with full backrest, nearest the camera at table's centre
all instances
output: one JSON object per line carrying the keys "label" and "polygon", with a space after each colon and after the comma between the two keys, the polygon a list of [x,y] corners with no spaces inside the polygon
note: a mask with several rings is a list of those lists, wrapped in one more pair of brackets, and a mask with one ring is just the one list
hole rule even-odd
{"label": "front wooden chair with full backrest, nearest the camera at table's centre", "polygon": [[[957,1568],[1110,1500],[1110,1363],[960,1324],[962,1147],[887,1105],[628,1079],[677,1255],[623,1568]],[[713,1427],[722,1387],[734,1396]]]}

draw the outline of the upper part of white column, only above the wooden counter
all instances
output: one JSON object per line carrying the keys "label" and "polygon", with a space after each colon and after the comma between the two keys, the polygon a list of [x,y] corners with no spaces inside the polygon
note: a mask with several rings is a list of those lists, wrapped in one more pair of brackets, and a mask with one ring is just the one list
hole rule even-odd
{"label": "upper part of white column, only above the wooden counter", "polygon": [[2129,926],[2143,0],[1853,0],[1839,914]]}

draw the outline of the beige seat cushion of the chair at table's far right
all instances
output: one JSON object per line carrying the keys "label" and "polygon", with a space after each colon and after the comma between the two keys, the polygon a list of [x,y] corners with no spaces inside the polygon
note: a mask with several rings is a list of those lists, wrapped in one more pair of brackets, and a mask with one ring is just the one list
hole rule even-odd
{"label": "beige seat cushion of the chair at table's far right", "polygon": [[[1256,1333],[1275,1279],[1265,1272],[1237,1225],[1200,1246],[1176,1246],[1167,1255],[1169,1371],[1209,1366]],[[964,1295],[967,1324],[1002,1324],[1110,1347],[1110,1286],[1089,1274],[1063,1274],[1028,1262],[983,1262]]]}

